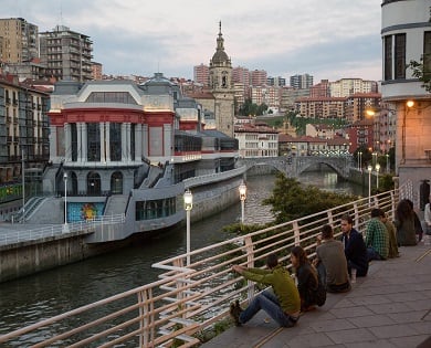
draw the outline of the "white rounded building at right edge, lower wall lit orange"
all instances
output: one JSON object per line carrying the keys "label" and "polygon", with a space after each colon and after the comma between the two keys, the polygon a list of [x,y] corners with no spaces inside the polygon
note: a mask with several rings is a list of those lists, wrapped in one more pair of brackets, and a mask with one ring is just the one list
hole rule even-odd
{"label": "white rounded building at right edge, lower wall lit orange", "polygon": [[382,1],[381,38],[381,94],[397,117],[396,171],[416,194],[421,180],[431,179],[431,94],[409,63],[422,60],[424,74],[431,71],[430,1]]}

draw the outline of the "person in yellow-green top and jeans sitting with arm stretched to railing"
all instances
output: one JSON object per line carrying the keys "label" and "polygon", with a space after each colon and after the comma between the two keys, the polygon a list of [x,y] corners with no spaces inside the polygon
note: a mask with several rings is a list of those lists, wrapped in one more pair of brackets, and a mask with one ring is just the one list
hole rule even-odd
{"label": "person in yellow-green top and jeans sitting with arm stretched to railing", "polygon": [[299,318],[301,298],[299,293],[288,271],[278,264],[275,254],[270,254],[266,260],[269,270],[248,268],[233,265],[232,271],[241,274],[244,278],[264,285],[271,285],[254,296],[245,309],[240,307],[239,302],[231,304],[230,314],[236,326],[248,323],[260,309],[265,310],[280,326],[295,326]]}

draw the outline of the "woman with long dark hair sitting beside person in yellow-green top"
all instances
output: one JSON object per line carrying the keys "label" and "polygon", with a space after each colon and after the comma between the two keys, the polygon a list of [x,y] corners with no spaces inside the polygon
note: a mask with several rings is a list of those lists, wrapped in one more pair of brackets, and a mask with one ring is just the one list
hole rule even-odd
{"label": "woman with long dark hair sitting beside person in yellow-green top", "polygon": [[294,246],[291,251],[292,266],[295,268],[297,289],[301,296],[301,312],[316,308],[318,275],[316,268],[309,263],[307,255],[301,246]]}

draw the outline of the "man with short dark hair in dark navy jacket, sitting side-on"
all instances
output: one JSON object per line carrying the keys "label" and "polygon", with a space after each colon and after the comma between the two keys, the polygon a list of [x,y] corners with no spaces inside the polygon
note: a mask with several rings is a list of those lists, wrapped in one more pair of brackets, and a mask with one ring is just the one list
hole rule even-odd
{"label": "man with short dark hair in dark navy jacket, sitting side-on", "polygon": [[368,273],[368,256],[362,234],[354,229],[354,220],[348,214],[341,217],[340,224],[348,273],[351,276],[351,268],[355,268],[357,276],[366,276]]}

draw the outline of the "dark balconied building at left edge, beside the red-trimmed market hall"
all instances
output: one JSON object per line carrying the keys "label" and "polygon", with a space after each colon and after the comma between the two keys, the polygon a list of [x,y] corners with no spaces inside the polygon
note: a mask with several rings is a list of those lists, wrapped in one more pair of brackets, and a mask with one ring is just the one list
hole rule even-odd
{"label": "dark balconied building at left edge, beside the red-trimmed market hall", "polygon": [[0,75],[0,183],[20,181],[22,161],[42,175],[50,157],[48,107],[46,93]]}

